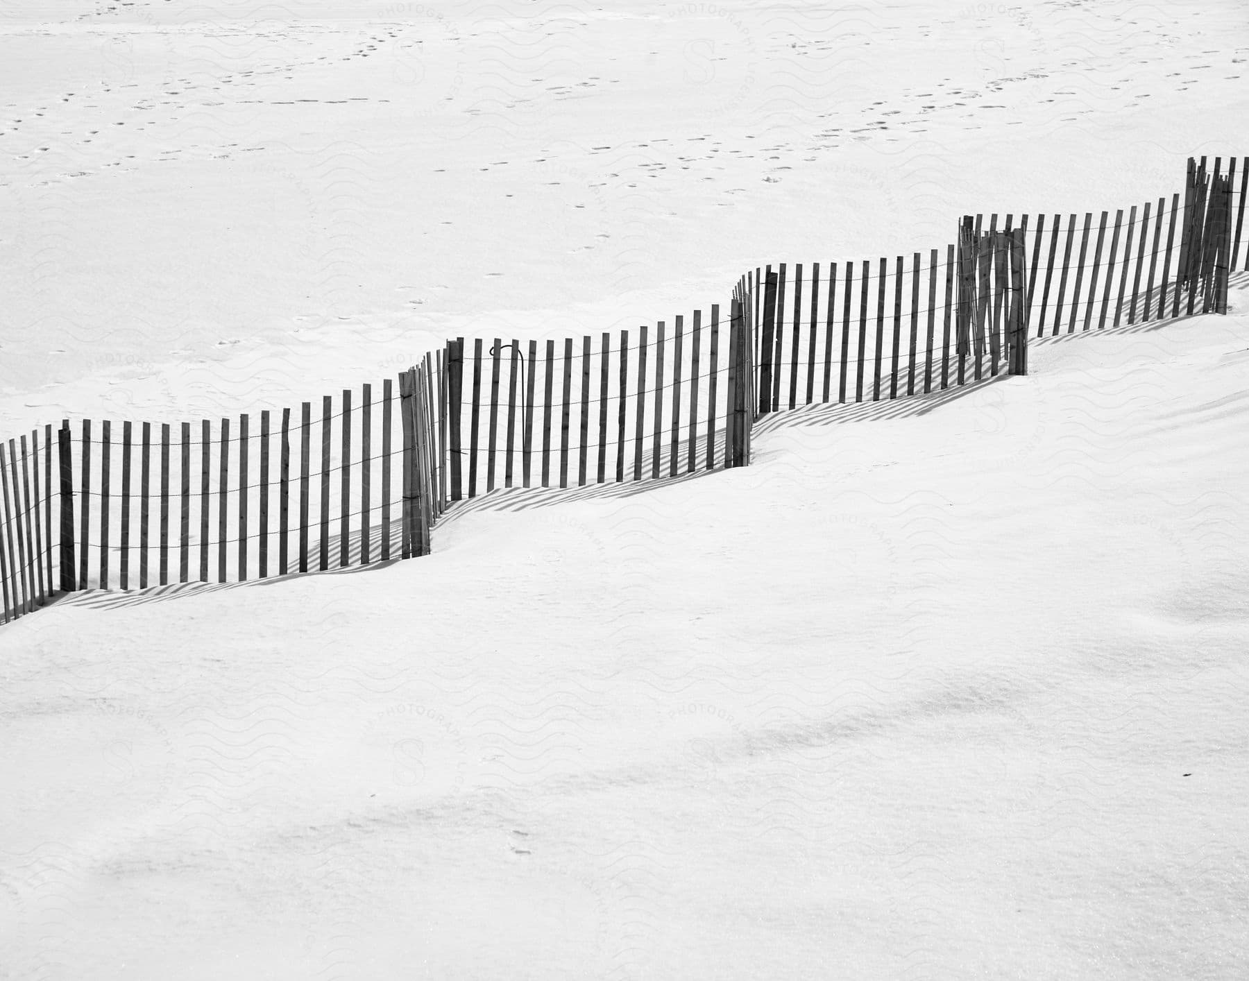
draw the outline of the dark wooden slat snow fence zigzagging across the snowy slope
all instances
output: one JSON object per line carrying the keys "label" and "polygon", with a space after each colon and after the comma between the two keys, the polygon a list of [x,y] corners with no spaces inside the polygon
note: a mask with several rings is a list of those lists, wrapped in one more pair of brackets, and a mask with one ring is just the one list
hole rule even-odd
{"label": "dark wooden slat snow fence zigzagging across the snowy slope", "polygon": [[36,428],[0,443],[0,622],[72,590],[425,555],[447,507],[500,487],[741,467],[768,412],[1025,374],[1032,336],[1224,313],[1249,270],[1247,178],[1249,159],[1203,157],[1183,201],[1113,221],[965,216],[944,250],[756,268],[727,322],[712,306],[618,338],[456,338],[320,412]]}

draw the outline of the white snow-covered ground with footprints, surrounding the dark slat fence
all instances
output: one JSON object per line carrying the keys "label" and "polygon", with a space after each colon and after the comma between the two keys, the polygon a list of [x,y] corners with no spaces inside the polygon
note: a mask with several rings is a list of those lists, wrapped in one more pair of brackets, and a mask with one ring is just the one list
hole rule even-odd
{"label": "white snow-covered ground with footprints, surrounding the dark slat fence", "polygon": [[[0,7],[0,434],[1244,154],[1238,2]],[[0,977],[1249,976],[1249,290],[0,628]]]}

